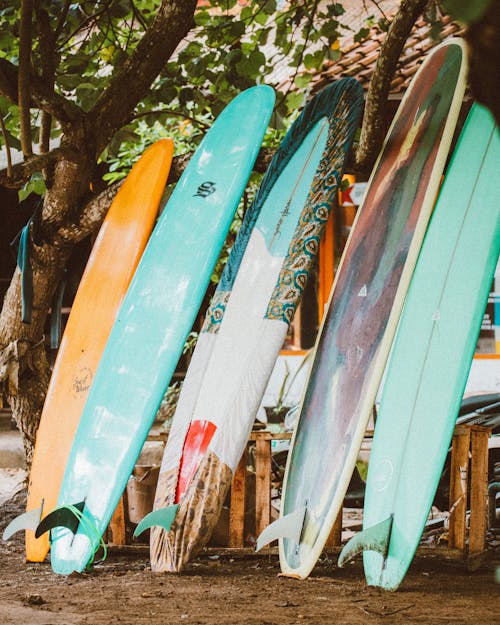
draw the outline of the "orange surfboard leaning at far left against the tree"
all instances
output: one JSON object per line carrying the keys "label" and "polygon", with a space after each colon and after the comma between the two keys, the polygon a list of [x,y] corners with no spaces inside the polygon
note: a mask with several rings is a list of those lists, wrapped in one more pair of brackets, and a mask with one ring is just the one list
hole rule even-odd
{"label": "orange surfboard leaning at far left against the tree", "polygon": [[[57,504],[66,461],[97,365],[153,229],[173,156],[162,139],[137,161],[101,226],[76,293],[40,419],[28,486],[28,512]],[[48,534],[26,531],[26,559],[42,562]]]}

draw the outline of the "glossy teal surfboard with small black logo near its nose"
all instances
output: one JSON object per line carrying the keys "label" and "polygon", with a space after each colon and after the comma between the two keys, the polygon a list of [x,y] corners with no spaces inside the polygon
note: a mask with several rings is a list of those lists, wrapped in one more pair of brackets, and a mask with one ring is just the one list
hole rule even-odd
{"label": "glossy teal surfboard with small black logo near its nose", "polygon": [[[75,533],[61,527],[60,512],[53,517],[56,573],[82,571],[98,547],[198,312],[273,105],[273,90],[258,86],[225,108],[153,231],[105,347],[66,467],[58,506],[83,504],[83,517],[76,528],[68,520]],[[50,527],[49,517],[40,531]]]}

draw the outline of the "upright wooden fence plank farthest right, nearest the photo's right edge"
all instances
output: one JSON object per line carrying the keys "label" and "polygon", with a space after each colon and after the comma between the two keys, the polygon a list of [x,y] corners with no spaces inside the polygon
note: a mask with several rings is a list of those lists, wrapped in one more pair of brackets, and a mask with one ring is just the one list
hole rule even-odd
{"label": "upright wooden fence plank farthest right, nearest the photo's right edge", "polygon": [[469,554],[486,546],[486,508],[488,500],[488,438],[486,428],[472,427]]}

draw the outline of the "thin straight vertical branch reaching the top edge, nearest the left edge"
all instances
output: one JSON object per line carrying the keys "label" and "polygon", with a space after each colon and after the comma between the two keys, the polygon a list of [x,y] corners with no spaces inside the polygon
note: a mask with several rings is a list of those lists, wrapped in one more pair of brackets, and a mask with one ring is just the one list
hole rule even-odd
{"label": "thin straight vertical branch reaching the top edge, nearest the left edge", "polygon": [[22,0],[21,20],[19,24],[19,74],[17,77],[17,98],[19,102],[19,130],[21,149],[25,158],[33,154],[31,144],[30,113],[30,66],[31,66],[31,23],[33,18],[33,0]]}

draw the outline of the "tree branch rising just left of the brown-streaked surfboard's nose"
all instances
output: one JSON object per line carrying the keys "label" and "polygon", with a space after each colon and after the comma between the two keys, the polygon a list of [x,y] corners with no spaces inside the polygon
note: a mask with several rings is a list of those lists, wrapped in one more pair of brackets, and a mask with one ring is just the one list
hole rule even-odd
{"label": "tree branch rising just left of the brown-streaked surfboard's nose", "polygon": [[428,1],[402,0],[380,48],[368,89],[363,126],[356,152],[356,167],[361,171],[369,171],[377,158],[385,133],[383,109],[387,103],[391,79],[408,35]]}

